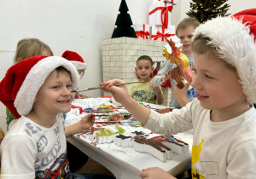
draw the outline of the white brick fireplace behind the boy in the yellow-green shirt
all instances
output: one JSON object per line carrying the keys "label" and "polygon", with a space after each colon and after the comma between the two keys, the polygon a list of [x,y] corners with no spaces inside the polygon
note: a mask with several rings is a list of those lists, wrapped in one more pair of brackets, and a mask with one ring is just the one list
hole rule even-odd
{"label": "white brick fireplace behind the boy in the yellow-green shirt", "polygon": [[[102,40],[102,72],[103,81],[119,78],[125,82],[137,80],[135,72],[137,58],[148,55],[153,61],[166,61],[162,49],[166,42],[138,39],[138,38],[112,38]],[[129,88],[130,85],[127,86]],[[164,103],[169,106],[171,99],[170,88],[162,88]],[[111,95],[104,93],[104,95]]]}

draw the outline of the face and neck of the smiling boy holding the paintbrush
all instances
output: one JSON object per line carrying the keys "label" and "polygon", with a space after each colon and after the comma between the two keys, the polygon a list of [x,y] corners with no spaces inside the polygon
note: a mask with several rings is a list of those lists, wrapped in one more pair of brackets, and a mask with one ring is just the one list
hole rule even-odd
{"label": "face and neck of the smiling boy holding the paintbrush", "polygon": [[215,111],[241,108],[246,105],[239,78],[224,61],[210,55],[194,54],[195,76],[192,86],[201,106]]}

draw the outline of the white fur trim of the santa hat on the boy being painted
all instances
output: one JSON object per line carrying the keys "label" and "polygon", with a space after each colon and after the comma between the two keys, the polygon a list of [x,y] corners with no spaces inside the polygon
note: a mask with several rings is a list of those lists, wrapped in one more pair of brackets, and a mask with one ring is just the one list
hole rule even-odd
{"label": "white fur trim of the santa hat on the boy being painted", "polygon": [[45,79],[58,66],[63,66],[71,74],[72,89],[77,90],[79,87],[79,73],[70,61],[59,57],[49,56],[32,66],[26,75],[25,80],[20,86],[15,98],[15,107],[20,115],[26,116],[32,110],[33,102],[38,94],[38,90],[44,84]]}

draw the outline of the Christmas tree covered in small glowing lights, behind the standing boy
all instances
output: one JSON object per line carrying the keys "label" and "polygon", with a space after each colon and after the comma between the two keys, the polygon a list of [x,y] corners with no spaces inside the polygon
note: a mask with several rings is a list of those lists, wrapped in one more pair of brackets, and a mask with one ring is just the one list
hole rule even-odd
{"label": "Christmas tree covered in small glowing lights, behind the standing boy", "polygon": [[187,15],[195,17],[201,23],[216,18],[218,16],[228,16],[226,14],[230,8],[228,0],[192,0],[190,3],[190,10]]}

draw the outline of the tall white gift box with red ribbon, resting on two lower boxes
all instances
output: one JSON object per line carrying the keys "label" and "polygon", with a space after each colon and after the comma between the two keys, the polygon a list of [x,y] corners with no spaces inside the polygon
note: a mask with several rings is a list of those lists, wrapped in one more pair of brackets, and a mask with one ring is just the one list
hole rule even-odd
{"label": "tall white gift box with red ribbon, resting on two lower boxes", "polygon": [[157,1],[149,6],[150,26],[171,26],[172,3]]}

